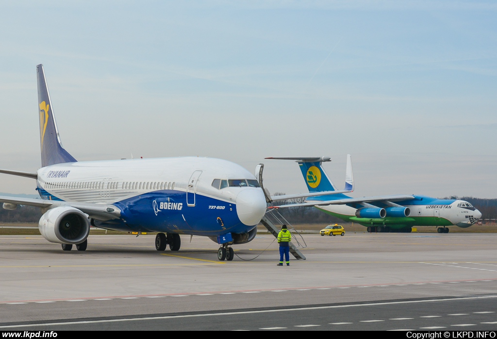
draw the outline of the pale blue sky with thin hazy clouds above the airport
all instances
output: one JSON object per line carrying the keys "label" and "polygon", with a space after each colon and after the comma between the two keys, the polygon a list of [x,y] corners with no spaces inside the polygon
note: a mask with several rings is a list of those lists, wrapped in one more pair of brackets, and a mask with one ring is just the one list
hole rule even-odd
{"label": "pale blue sky with thin hazy clouds above the airport", "polygon": [[[330,156],[353,196],[497,198],[495,1],[2,1],[0,168],[41,166],[36,65],[79,161]],[[0,174],[0,192],[35,193]]]}

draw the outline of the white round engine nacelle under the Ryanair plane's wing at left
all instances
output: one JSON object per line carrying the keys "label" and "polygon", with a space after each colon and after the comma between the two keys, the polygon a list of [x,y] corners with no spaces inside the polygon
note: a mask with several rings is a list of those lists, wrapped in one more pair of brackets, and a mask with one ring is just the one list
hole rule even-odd
{"label": "white round engine nacelle under the Ryanair plane's wing at left", "polygon": [[70,206],[48,210],[38,223],[41,235],[50,242],[80,244],[90,232],[88,217]]}

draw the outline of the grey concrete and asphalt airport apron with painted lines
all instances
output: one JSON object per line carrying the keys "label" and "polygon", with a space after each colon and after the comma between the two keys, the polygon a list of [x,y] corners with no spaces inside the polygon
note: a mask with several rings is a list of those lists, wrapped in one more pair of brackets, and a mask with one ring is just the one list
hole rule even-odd
{"label": "grey concrete and asphalt airport apron with painted lines", "polygon": [[0,236],[0,331],[497,329],[497,234],[304,239],[307,260],[277,267],[271,235],[231,262],[204,237],[159,252],[155,235],[90,235],[63,252]]}

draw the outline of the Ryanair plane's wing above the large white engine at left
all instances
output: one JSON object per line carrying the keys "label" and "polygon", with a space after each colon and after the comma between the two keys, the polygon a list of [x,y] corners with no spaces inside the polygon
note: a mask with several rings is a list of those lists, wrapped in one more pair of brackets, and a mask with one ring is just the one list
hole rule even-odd
{"label": "Ryanair plane's wing above the large white engine at left", "polygon": [[[17,198],[0,196],[0,202],[12,205],[26,205],[39,208],[54,208],[59,206],[71,206],[87,214],[89,218],[99,221],[119,219],[121,210],[112,204],[94,204],[81,202],[67,202],[46,199]],[[15,208],[15,207],[14,207]]]}

